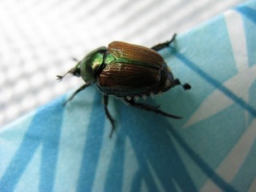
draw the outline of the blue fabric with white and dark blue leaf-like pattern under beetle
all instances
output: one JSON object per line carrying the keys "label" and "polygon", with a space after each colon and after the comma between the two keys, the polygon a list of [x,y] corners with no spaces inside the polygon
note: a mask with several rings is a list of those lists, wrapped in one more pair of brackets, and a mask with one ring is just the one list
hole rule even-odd
{"label": "blue fabric with white and dark blue leaf-like pattern under beetle", "polygon": [[110,139],[95,86],[16,120],[0,132],[0,191],[256,191],[255,32],[249,1],[160,52],[192,89],[146,102],[182,120],[111,98]]}

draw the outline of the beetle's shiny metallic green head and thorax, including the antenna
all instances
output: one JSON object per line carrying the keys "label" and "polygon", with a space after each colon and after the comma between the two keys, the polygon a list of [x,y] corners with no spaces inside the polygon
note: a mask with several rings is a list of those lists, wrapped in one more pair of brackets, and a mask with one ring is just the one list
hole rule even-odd
{"label": "beetle's shiny metallic green head and thorax, including the antenna", "polygon": [[[96,75],[99,72],[100,65],[104,63],[104,55],[107,51],[106,47],[99,47],[91,51],[83,60],[80,60],[75,67],[67,71],[76,77],[82,77],[87,84],[93,84],[96,80]],[[62,80],[64,76],[57,76]]]}

